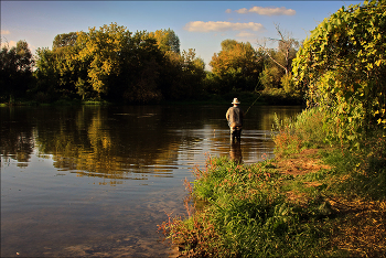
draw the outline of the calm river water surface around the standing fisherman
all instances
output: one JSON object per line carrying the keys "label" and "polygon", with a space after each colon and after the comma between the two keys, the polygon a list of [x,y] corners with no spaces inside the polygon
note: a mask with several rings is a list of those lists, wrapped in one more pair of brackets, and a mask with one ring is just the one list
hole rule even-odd
{"label": "calm river water surface around the standing fisherman", "polygon": [[275,114],[301,111],[254,106],[235,147],[227,108],[1,107],[1,256],[170,256],[158,225],[185,215],[191,169],[274,158]]}

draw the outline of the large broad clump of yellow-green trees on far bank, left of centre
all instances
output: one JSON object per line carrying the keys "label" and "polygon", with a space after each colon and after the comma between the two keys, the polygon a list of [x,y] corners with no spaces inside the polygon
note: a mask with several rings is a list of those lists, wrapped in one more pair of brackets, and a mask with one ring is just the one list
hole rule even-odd
{"label": "large broad clump of yellow-green trees on far bank, left of centre", "polygon": [[157,103],[199,97],[204,62],[194,50],[180,54],[172,30],[128,31],[117,23],[58,34],[53,49],[36,51],[32,89],[39,101],[58,98]]}

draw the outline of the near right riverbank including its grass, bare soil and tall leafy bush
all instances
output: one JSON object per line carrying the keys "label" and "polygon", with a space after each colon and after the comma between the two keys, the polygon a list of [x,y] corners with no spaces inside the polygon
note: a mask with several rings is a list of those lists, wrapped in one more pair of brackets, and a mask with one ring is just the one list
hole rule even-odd
{"label": "near right riverbank including its grass, bare soil and tall leafy bush", "polygon": [[366,1],[312,31],[292,62],[308,108],[276,120],[276,159],[194,170],[187,217],[160,225],[181,256],[386,257],[384,13]]}

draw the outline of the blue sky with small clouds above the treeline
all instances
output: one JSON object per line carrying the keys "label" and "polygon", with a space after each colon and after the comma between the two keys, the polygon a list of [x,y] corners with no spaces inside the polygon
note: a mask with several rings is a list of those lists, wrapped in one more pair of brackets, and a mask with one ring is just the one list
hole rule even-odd
{"label": "blue sky with small clouds above the treeline", "polygon": [[194,49],[208,65],[224,40],[249,42],[257,49],[264,39],[278,39],[279,25],[282,32],[302,41],[342,6],[361,2],[1,0],[1,44],[13,46],[24,40],[34,54],[37,47],[52,49],[57,34],[87,32],[116,22],[130,32],[171,29],[180,39],[181,51]]}

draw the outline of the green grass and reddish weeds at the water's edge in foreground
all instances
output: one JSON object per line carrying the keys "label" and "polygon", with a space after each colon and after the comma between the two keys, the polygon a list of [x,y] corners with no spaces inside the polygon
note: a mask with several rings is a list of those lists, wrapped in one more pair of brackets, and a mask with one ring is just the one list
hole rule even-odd
{"label": "green grass and reddish weeds at the water's edge in foreground", "polygon": [[322,256],[331,214],[325,201],[315,194],[307,208],[289,202],[282,191],[288,179],[274,168],[269,161],[238,165],[208,159],[193,183],[194,197],[208,205],[185,221],[172,218],[163,229],[193,257]]}

